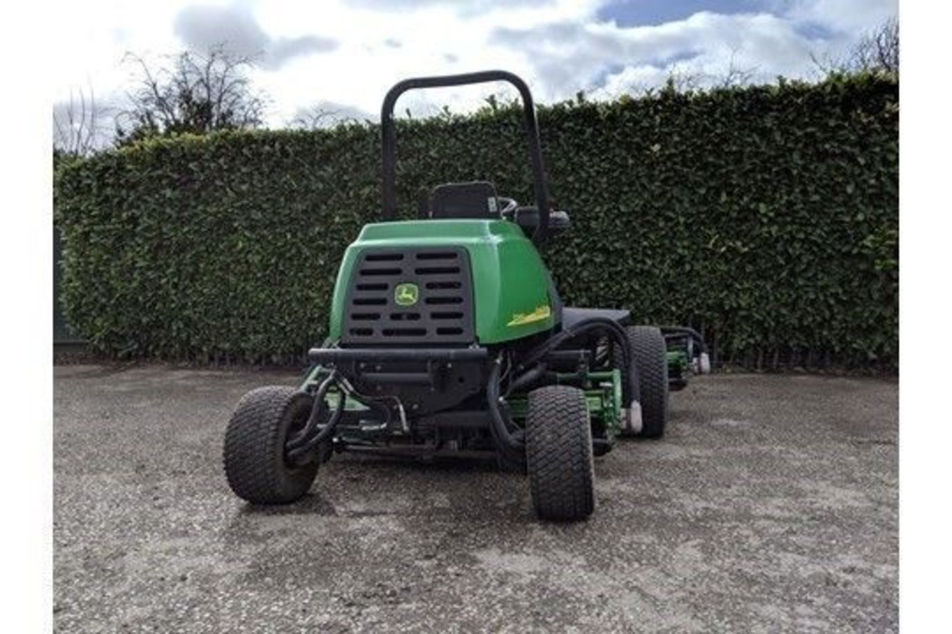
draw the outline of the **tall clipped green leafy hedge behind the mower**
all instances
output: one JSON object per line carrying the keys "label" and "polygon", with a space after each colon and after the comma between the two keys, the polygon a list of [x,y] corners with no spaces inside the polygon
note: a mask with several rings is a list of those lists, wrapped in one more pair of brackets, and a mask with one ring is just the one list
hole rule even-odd
{"label": "tall clipped green leafy hedge behind the mower", "polygon": [[[753,367],[898,363],[899,86],[879,76],[541,108],[568,303],[690,324]],[[63,302],[113,355],[292,362],[379,213],[379,130],[153,140],[57,171]],[[402,124],[398,194],[531,200],[518,111]]]}

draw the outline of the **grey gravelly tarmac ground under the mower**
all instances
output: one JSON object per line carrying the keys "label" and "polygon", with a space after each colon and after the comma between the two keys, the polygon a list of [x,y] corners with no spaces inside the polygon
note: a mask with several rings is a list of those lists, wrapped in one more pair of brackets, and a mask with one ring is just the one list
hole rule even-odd
{"label": "grey gravelly tarmac ground under the mower", "polygon": [[587,522],[483,463],[338,456],[251,509],[221,440],[297,376],[58,366],[62,632],[898,629],[897,385],[714,375],[596,465]]}

